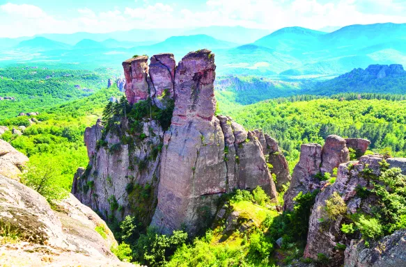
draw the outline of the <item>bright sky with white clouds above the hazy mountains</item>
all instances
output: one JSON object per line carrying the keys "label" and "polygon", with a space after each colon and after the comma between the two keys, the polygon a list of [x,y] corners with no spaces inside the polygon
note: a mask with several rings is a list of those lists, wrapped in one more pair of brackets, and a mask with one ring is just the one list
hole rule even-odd
{"label": "bright sky with white clouds above the hazy mountains", "polygon": [[406,0],[0,0],[0,37],[130,29],[406,23]]}

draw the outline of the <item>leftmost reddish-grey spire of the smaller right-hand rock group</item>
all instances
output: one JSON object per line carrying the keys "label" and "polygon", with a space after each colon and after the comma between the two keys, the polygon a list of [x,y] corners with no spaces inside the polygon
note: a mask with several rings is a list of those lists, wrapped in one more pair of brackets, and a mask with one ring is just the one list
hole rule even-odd
{"label": "leftmost reddish-grey spire of the smaller right-hand rock group", "polygon": [[295,206],[293,198],[300,192],[309,193],[320,188],[320,181],[315,175],[320,172],[322,163],[322,146],[306,144],[300,148],[299,162],[293,169],[292,181],[285,195],[283,195],[283,210],[291,211]]}

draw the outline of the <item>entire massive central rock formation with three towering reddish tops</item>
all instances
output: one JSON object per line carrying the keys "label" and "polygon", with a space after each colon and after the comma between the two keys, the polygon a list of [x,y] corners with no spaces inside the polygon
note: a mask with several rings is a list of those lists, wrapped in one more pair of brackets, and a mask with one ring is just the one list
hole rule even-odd
{"label": "entire massive central rock formation with three towering reddish tops", "polygon": [[[118,131],[105,136],[100,120],[86,129],[90,163],[78,170],[72,186],[82,203],[118,220],[138,214],[162,233],[185,227],[195,234],[214,216],[221,194],[261,186],[276,197],[267,163],[274,166],[279,187],[290,180],[276,140],[214,115],[216,66],[211,51],[191,52],[178,65],[173,54],[155,55],[150,65],[148,56],[136,56],[123,62],[123,69],[130,104],[150,98],[166,108],[168,99],[174,100],[171,126],[164,131],[159,122],[144,120],[139,133],[143,139],[136,142],[123,142],[130,137],[127,118],[121,118]],[[101,142],[107,145],[98,147]],[[149,195],[140,200],[146,188]]]}

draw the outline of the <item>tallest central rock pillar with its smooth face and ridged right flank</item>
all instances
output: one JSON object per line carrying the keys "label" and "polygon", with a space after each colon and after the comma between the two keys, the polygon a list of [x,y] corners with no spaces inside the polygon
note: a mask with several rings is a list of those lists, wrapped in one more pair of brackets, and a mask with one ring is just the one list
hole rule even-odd
{"label": "tallest central rock pillar with its smooth face and ridged right flank", "polygon": [[196,234],[216,211],[215,200],[233,188],[276,191],[256,134],[214,116],[214,55],[187,54],[175,70],[175,109],[164,149],[158,205],[152,225],[163,233],[183,226]]}

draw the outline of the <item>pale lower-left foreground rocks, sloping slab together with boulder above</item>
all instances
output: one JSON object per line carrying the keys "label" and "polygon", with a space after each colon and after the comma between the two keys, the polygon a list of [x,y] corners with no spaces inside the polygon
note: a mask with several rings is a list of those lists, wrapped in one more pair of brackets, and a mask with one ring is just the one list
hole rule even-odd
{"label": "pale lower-left foreground rocks, sloping slab together with boulder above", "polygon": [[[106,223],[90,208],[69,195],[49,207],[45,197],[20,184],[19,166],[28,161],[8,143],[0,140],[0,221],[1,227],[16,232],[20,243],[1,246],[1,263],[6,266],[42,266],[44,257],[55,266],[72,263],[88,266],[127,266],[110,252],[117,245]],[[95,231],[103,229],[104,236]],[[0,237],[1,239],[1,237]],[[23,242],[24,241],[24,242]],[[85,257],[85,255],[88,255]]]}

